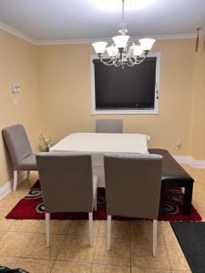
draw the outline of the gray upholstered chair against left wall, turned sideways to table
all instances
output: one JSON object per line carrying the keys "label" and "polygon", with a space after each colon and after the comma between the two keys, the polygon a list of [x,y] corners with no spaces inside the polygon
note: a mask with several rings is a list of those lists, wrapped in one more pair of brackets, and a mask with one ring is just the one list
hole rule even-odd
{"label": "gray upholstered chair against left wall, turned sideways to table", "polygon": [[13,189],[15,190],[18,171],[26,170],[29,179],[30,171],[37,170],[36,156],[32,153],[24,126],[20,124],[8,126],[2,130],[2,133],[14,167]]}

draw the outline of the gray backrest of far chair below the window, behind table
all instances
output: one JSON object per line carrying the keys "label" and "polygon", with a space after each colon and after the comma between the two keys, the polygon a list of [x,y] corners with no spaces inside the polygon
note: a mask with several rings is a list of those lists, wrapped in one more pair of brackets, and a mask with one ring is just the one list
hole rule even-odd
{"label": "gray backrest of far chair below the window, behind table", "polygon": [[122,119],[97,119],[96,132],[122,133],[123,132]]}

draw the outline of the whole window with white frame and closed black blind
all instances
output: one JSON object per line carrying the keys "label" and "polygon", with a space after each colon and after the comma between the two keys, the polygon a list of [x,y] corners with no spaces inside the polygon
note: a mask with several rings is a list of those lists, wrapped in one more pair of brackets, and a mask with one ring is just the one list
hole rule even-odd
{"label": "whole window with white frame and closed black blind", "polygon": [[159,53],[124,68],[90,60],[93,115],[159,113]]}

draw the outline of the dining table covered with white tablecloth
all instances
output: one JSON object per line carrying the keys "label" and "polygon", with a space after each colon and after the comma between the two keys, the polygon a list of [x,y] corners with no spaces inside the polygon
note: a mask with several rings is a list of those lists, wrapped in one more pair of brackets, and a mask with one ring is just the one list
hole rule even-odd
{"label": "dining table covered with white tablecloth", "polygon": [[105,187],[103,157],[106,153],[148,154],[147,136],[142,134],[73,133],[50,148],[51,152],[87,152],[92,157],[98,187]]}

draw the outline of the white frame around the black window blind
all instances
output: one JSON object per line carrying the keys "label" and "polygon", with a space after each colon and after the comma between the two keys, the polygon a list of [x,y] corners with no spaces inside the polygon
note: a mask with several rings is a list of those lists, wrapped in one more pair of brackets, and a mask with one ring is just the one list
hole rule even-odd
{"label": "white frame around the black window blind", "polygon": [[[160,52],[156,53],[149,53],[149,57],[157,57],[156,61],[156,86],[155,86],[155,102],[154,102],[154,108],[143,108],[138,110],[124,110],[124,109],[96,109],[96,92],[95,92],[95,67],[93,64],[93,60],[99,58],[97,55],[91,55],[90,56],[90,70],[91,70],[91,115],[116,115],[116,114],[123,114],[123,115],[130,115],[130,114],[151,114],[156,115],[159,114],[159,78],[160,78]],[[140,65],[139,65],[140,66]]]}

